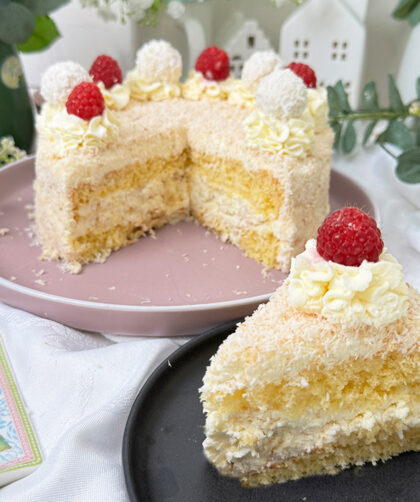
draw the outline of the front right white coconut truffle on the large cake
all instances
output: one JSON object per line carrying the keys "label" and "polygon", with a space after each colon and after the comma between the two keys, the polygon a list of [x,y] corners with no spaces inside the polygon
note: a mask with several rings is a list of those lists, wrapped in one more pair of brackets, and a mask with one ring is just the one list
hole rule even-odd
{"label": "front right white coconut truffle on the large cake", "polygon": [[308,103],[303,80],[291,70],[276,69],[258,85],[257,107],[276,118],[300,117]]}

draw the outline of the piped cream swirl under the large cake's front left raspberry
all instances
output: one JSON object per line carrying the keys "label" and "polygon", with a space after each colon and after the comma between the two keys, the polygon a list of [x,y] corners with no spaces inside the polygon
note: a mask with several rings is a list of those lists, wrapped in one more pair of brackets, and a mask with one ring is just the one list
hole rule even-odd
{"label": "piped cream swirl under the large cake's front left raspberry", "polygon": [[119,133],[119,123],[112,112],[83,120],[67,113],[64,106],[45,104],[37,118],[39,134],[57,141],[63,153],[79,147],[98,149],[110,143]]}

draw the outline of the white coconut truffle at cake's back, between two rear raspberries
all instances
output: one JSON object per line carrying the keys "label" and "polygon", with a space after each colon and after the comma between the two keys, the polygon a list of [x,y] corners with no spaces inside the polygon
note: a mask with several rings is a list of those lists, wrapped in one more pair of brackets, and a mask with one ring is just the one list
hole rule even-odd
{"label": "white coconut truffle at cake's back, between two rear raspberries", "polygon": [[137,51],[136,67],[145,82],[174,84],[181,77],[182,58],[165,40],[151,40]]}

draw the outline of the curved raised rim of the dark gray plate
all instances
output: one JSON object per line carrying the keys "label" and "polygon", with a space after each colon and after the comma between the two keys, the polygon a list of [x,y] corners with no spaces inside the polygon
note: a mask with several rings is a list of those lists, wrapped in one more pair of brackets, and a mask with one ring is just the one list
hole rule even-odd
{"label": "curved raised rim of the dark gray plate", "polygon": [[[240,322],[244,321],[244,317],[240,317],[233,321],[227,321],[225,323],[219,324],[213,328],[206,330],[204,333],[199,335],[192,335],[192,338],[185,342],[181,347],[174,350],[171,354],[166,356],[163,361],[150,373],[144,384],[140,387],[134,398],[133,404],[131,405],[130,412],[128,414],[127,421],[124,427],[123,440],[122,440],[122,450],[121,450],[121,460],[124,473],[125,487],[127,489],[128,497],[131,502],[141,502],[134,491],[134,474],[130,466],[130,456],[132,455],[132,446],[130,443],[132,430],[135,427],[135,417],[137,416],[138,409],[141,408],[143,402],[146,401],[147,395],[153,390],[153,386],[162,376],[165,371],[168,371],[168,360],[176,362],[177,359],[182,357],[184,353],[188,353],[194,350],[197,345],[205,344],[209,339],[222,334],[223,332],[233,333],[233,330],[237,327]],[[232,331],[231,331],[232,330]],[[229,335],[226,335],[226,337]],[[130,477],[131,476],[131,477]]]}

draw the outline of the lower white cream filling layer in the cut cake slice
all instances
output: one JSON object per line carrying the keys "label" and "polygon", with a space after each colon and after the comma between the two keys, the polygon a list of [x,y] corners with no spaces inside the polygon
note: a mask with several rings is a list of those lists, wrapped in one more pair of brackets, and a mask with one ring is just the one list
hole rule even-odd
{"label": "lower white cream filling layer in the cut cake slice", "polygon": [[234,417],[220,422],[216,414],[210,413],[203,443],[209,460],[222,469],[235,462],[232,469],[241,476],[270,462],[306,456],[330,445],[345,446],[354,434],[367,442],[374,442],[381,432],[396,433],[403,439],[406,429],[420,426],[420,401],[409,406],[395,400],[375,412],[354,414],[353,410],[348,416],[342,412],[339,418],[320,415],[307,420],[282,420],[276,413],[267,415],[261,415],[260,420],[249,415],[241,417],[240,422]]}

